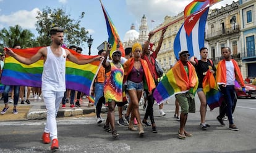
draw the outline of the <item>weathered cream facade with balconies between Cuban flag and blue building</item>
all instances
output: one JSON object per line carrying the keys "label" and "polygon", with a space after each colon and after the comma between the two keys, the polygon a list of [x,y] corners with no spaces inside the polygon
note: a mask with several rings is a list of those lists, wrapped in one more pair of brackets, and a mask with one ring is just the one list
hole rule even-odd
{"label": "weathered cream facade with balconies between Cuban flag and blue building", "polygon": [[223,59],[221,47],[230,47],[233,58],[242,68],[241,60],[241,22],[239,14],[239,2],[213,9],[209,11],[207,28],[205,29],[205,41],[208,44],[208,57],[214,63]]}

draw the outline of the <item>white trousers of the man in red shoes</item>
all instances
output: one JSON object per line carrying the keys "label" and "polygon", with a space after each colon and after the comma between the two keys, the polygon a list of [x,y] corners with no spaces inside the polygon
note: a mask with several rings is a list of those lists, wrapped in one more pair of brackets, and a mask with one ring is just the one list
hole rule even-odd
{"label": "white trousers of the man in red shoes", "polygon": [[51,139],[55,139],[58,138],[56,116],[58,114],[59,104],[61,104],[64,92],[43,90],[42,93],[47,111],[45,132],[50,133]]}

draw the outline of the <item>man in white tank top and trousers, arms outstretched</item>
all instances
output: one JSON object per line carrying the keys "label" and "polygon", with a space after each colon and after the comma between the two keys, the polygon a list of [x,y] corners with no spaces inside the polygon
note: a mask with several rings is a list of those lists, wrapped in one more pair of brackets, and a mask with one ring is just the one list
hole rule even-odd
{"label": "man in white tank top and trousers, arms outstretched", "polygon": [[20,63],[30,65],[44,58],[44,68],[42,74],[41,90],[47,110],[45,132],[43,133],[43,143],[51,143],[51,150],[59,149],[56,116],[64,92],[66,91],[66,58],[78,65],[84,65],[95,60],[103,60],[102,56],[91,59],[78,59],[69,50],[61,47],[64,44],[64,29],[59,27],[51,28],[51,45],[43,47],[30,58],[20,57],[11,49],[5,51]]}

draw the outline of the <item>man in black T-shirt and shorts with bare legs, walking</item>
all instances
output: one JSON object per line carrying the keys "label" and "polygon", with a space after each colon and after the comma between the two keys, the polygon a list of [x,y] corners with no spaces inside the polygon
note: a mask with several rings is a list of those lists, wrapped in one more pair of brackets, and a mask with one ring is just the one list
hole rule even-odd
{"label": "man in black T-shirt and shorts with bare legs, walking", "polygon": [[207,98],[205,96],[205,93],[203,93],[203,78],[205,77],[208,69],[210,69],[210,72],[215,74],[216,68],[213,64],[213,61],[210,59],[207,59],[208,57],[208,49],[206,47],[202,47],[200,49],[200,56],[201,60],[197,60],[196,57],[190,58],[190,63],[195,66],[195,69],[197,71],[197,77],[198,77],[198,88],[197,88],[197,95],[200,100],[200,116],[201,116],[201,128],[202,130],[207,130],[207,127],[210,127],[210,125],[205,123],[205,116],[207,112]]}

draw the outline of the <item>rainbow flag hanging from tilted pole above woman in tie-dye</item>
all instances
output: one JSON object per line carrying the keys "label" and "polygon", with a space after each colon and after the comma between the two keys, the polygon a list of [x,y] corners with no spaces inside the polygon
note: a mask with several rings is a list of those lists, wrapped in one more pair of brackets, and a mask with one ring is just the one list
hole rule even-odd
{"label": "rainbow flag hanging from tilted pole above woman in tie-dye", "polygon": [[114,26],[114,23],[112,22],[111,18],[108,15],[108,12],[106,11],[105,7],[103,6],[102,2],[100,1],[102,10],[103,10],[103,14],[105,16],[105,20],[106,20],[106,26],[107,26],[107,30],[108,30],[108,43],[112,45],[112,49],[109,53],[109,55],[112,55],[112,53],[114,52],[114,50],[116,50],[116,45],[119,42],[119,50],[122,52],[122,57],[124,57],[125,53],[124,53],[124,47],[122,45],[121,39],[118,36],[116,27]]}

